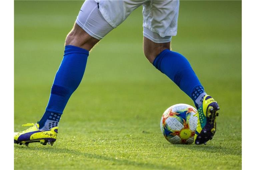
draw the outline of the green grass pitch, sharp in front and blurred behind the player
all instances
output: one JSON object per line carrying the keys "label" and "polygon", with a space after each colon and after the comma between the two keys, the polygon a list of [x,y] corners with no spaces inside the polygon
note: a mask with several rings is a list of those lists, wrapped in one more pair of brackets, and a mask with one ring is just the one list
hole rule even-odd
{"label": "green grass pitch, sharp in front and blurred behind the player", "polygon": [[[15,1],[15,131],[40,120],[83,1]],[[221,107],[207,145],[173,145],[159,122],[193,102],[142,50],[142,8],[91,51],[53,146],[14,144],[15,169],[241,169],[241,1],[181,1],[172,49]]]}

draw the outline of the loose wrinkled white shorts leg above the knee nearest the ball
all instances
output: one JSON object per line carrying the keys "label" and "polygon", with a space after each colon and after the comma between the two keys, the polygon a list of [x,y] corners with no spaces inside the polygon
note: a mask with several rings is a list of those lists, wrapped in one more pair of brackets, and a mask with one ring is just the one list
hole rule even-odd
{"label": "loose wrinkled white shorts leg above the knee nearest the ball", "polygon": [[143,27],[160,37],[176,36],[179,0],[152,0],[143,4]]}

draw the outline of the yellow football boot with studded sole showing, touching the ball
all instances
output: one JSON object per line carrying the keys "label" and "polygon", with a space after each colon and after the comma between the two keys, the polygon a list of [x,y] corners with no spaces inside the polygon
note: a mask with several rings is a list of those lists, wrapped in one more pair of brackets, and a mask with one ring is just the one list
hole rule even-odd
{"label": "yellow football boot with studded sole showing, touching the ball", "polygon": [[209,95],[203,99],[203,104],[197,109],[197,128],[195,133],[195,144],[206,144],[213,138],[216,132],[216,117],[219,116],[220,107]]}

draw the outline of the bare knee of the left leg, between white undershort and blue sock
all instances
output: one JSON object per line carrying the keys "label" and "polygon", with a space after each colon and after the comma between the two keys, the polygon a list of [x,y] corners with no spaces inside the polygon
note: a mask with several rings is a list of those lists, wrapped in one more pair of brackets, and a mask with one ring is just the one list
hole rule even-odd
{"label": "bare knee of the left leg, between white undershort and blue sock", "polygon": [[90,51],[97,42],[99,40],[90,36],[75,23],[75,26],[67,35],[65,45],[74,45]]}

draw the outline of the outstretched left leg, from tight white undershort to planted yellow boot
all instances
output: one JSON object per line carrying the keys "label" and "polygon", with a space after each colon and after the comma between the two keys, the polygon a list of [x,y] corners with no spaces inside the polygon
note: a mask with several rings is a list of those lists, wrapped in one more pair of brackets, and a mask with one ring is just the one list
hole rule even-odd
{"label": "outstretched left leg, from tight white undershort to planted yellow boot", "polygon": [[23,125],[32,127],[14,133],[14,143],[52,145],[55,142],[64,108],[82,80],[89,50],[113,29],[97,6],[95,1],[83,4],[73,29],[67,35],[64,56],[54,78],[45,113],[38,123]]}

